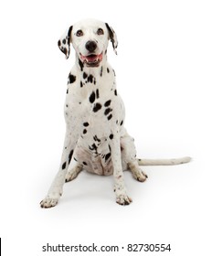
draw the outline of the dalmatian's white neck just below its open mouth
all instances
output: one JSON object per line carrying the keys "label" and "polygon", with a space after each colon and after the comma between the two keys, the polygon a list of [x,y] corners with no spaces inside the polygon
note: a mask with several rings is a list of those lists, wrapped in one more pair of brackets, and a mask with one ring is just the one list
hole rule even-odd
{"label": "dalmatian's white neck just below its open mouth", "polygon": [[82,75],[86,73],[88,76],[93,75],[96,76],[97,74],[101,75],[103,69],[107,67],[107,56],[104,55],[101,63],[98,67],[87,67],[86,64],[83,64],[79,57],[76,55],[76,67],[80,70]]}

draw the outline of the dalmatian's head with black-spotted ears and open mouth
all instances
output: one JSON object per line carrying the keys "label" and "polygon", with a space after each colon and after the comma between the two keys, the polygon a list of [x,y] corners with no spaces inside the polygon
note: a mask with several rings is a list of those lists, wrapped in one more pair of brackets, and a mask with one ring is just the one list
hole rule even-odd
{"label": "dalmatian's head with black-spotted ears and open mouth", "polygon": [[113,29],[104,22],[94,19],[82,20],[69,29],[58,40],[58,48],[69,58],[72,43],[78,58],[87,67],[98,67],[107,53],[108,41],[116,53],[118,41]]}

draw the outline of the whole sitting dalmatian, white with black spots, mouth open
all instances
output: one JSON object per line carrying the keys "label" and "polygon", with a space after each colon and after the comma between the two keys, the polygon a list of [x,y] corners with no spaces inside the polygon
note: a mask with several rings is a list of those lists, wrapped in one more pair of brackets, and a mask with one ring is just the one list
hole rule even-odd
{"label": "whole sitting dalmatian, white with black spots, mouth open", "polygon": [[[40,202],[41,208],[58,204],[63,185],[79,175],[82,169],[101,176],[114,177],[116,202],[132,202],[124,185],[124,170],[131,170],[138,181],[147,175],[139,165],[177,165],[189,157],[166,160],[136,158],[132,137],[124,128],[124,104],[116,89],[115,72],[107,61],[108,42],[116,53],[114,30],[98,20],[86,19],[70,26],[58,40],[58,48],[70,55],[70,44],[76,62],[69,72],[65,101],[66,135],[58,174]],[[76,161],[70,165],[71,159]]]}

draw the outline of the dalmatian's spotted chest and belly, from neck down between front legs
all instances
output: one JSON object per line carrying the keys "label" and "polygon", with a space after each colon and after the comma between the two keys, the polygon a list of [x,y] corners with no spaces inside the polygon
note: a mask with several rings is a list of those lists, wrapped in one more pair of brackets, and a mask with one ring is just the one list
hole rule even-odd
{"label": "dalmatian's spotted chest and belly, from neck down between front legs", "polygon": [[[66,123],[78,131],[74,157],[84,168],[99,175],[111,175],[112,126],[123,119],[122,100],[117,94],[114,71],[102,67],[90,74],[71,70],[65,105]],[[118,114],[117,114],[118,113]]]}

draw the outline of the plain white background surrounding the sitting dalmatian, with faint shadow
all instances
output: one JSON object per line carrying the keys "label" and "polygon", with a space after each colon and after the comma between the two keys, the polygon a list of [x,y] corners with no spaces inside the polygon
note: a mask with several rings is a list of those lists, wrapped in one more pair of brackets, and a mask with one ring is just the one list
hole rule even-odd
{"label": "plain white background surrounding the sitting dalmatian, with faint shadow", "polygon": [[[146,255],[209,255],[211,243],[212,8],[210,1],[1,1],[0,149],[3,255],[42,245],[171,244]],[[118,91],[126,127],[145,158],[190,155],[186,165],[144,166],[141,184],[124,174],[133,202],[115,203],[112,176],[82,173],[56,208],[39,201],[58,171],[63,102],[74,61],[58,37],[84,17],[116,31]],[[112,255],[141,255],[122,251]],[[81,255],[72,253],[72,255]],[[88,253],[86,255],[111,255]]]}

